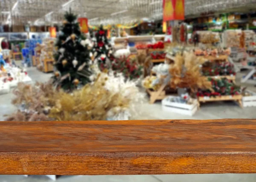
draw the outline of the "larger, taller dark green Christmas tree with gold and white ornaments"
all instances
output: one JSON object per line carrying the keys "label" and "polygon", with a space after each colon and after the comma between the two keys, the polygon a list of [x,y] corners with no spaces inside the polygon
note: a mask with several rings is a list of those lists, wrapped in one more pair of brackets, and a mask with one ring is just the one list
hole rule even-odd
{"label": "larger, taller dark green Christmas tree with gold and white ornaments", "polygon": [[64,90],[76,89],[79,84],[90,82],[90,51],[88,40],[80,32],[76,15],[66,12],[61,34],[57,39],[58,52],[55,54],[54,84]]}

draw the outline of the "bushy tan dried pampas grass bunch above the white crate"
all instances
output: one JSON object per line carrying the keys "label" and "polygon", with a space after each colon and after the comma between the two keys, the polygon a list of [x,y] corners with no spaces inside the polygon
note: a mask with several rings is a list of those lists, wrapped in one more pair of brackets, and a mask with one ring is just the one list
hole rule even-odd
{"label": "bushy tan dried pampas grass bunch above the white crate", "polygon": [[169,69],[172,88],[190,88],[192,92],[201,89],[211,89],[211,82],[201,75],[201,65],[204,59],[198,58],[193,52],[183,52],[175,57],[175,64]]}

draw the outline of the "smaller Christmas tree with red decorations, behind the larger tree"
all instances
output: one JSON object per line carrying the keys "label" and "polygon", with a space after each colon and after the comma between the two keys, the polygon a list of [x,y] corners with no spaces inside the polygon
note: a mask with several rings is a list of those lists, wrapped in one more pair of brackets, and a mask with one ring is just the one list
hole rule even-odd
{"label": "smaller Christmas tree with red decorations, behind the larger tree", "polygon": [[96,42],[94,43],[92,53],[94,56],[94,61],[98,64],[108,64],[108,61],[113,61],[114,56],[112,54],[111,44],[108,42],[106,31],[101,25],[98,32],[95,34]]}

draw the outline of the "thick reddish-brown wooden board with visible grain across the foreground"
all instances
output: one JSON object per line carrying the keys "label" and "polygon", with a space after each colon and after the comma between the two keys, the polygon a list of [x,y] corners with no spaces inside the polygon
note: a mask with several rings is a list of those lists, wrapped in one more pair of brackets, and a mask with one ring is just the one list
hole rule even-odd
{"label": "thick reddish-brown wooden board with visible grain across the foreground", "polygon": [[256,120],[0,124],[0,174],[256,173]]}

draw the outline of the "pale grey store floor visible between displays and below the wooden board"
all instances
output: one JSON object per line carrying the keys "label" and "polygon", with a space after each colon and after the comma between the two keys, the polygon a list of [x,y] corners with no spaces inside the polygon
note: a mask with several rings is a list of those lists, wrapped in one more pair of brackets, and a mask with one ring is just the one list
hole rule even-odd
{"label": "pale grey store floor visible between displays and below the wooden board", "polygon": [[[51,73],[39,72],[35,67],[27,69],[33,81],[48,81]],[[241,74],[237,75],[237,83]],[[256,87],[243,84],[249,90],[256,92]],[[0,121],[4,114],[16,110],[11,104],[12,93],[0,97]],[[201,104],[201,109],[194,116],[183,116],[176,113],[164,112],[160,102],[148,104],[146,101],[140,108],[140,113],[134,119],[220,119],[220,118],[256,118],[255,107],[241,109],[234,102],[217,102]],[[0,175],[0,182],[48,182],[45,176]],[[59,176],[58,182],[255,182],[256,174],[200,174],[200,175],[128,175],[128,176]]]}

